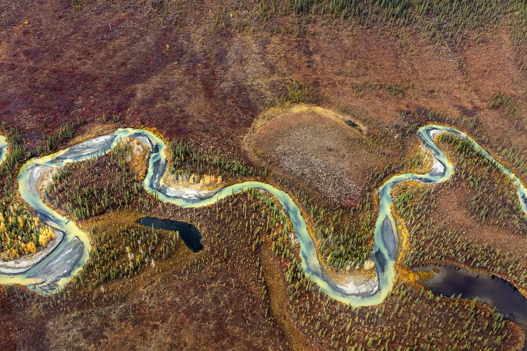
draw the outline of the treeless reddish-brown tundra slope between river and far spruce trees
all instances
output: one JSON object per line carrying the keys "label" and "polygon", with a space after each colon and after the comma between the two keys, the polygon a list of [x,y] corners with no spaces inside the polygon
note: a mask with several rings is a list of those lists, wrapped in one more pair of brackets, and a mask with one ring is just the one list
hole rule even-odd
{"label": "treeless reddish-brown tundra slope between river and far spruce trees", "polygon": [[[348,106],[373,124],[397,126],[401,111],[430,108],[477,115],[487,135],[527,146],[516,138],[522,129],[510,135],[515,121],[503,109],[497,121],[487,107],[494,91],[523,91],[522,79],[514,84],[517,60],[503,31],[456,49],[410,35],[402,53],[395,37],[321,19],[301,38],[273,34],[275,26],[291,28],[285,17],[238,34],[232,26],[242,11],[227,20],[226,31],[211,34],[203,14],[217,2],[180,5],[181,27],[138,11],[147,3],[121,5],[94,1],[77,11],[60,1],[0,6],[7,28],[0,33],[0,118],[23,126],[33,150],[42,135],[77,117],[86,119],[85,128],[104,119],[119,126],[139,122],[167,137],[239,146],[253,119],[292,79],[312,85],[323,105]],[[385,89],[357,94],[360,82],[413,87],[401,97]]]}

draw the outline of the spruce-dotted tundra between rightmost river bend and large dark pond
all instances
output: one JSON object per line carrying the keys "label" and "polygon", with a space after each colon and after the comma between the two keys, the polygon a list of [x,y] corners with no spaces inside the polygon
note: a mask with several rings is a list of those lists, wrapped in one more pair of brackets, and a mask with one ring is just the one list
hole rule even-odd
{"label": "spruce-dotted tundra between rightmost river bend and large dark pond", "polygon": [[[515,238],[514,242],[522,246],[527,217],[516,194],[515,184],[509,176],[502,174],[502,169],[483,157],[465,139],[443,134],[438,140],[454,160],[454,176],[434,187],[403,184],[394,197],[394,206],[408,226],[412,246],[404,264],[416,266],[448,260],[500,275],[525,288],[527,255],[496,248],[492,245],[492,238],[483,238],[482,235],[473,240],[467,239],[467,227],[463,223],[444,224],[441,215],[437,215],[437,198],[450,189],[457,189],[458,193],[462,193],[466,210],[470,213],[468,222],[479,223],[480,228],[491,228],[488,230],[490,235],[505,229]],[[461,191],[463,185],[465,187]]]}

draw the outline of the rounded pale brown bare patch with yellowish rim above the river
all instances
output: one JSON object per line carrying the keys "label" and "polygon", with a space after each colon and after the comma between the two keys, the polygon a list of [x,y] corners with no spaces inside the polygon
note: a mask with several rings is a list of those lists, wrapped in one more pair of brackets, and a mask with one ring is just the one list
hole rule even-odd
{"label": "rounded pale brown bare patch with yellowish rim above the river", "polygon": [[[364,178],[383,156],[344,116],[319,107],[296,106],[261,125],[245,138],[255,162],[290,174],[335,202],[362,199]],[[268,118],[268,117],[267,117]]]}

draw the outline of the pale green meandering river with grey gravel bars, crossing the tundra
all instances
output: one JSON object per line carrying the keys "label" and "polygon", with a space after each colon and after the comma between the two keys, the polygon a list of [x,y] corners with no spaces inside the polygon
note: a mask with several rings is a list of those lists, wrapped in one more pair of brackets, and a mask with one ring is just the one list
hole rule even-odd
{"label": "pale green meandering river with grey gravel bars, crossing the tundra", "polygon": [[[167,146],[156,135],[143,129],[117,129],[110,135],[100,136],[86,142],[77,144],[60,152],[32,158],[19,170],[18,190],[22,198],[30,205],[43,222],[50,225],[58,237],[63,236],[61,242],[47,255],[41,255],[34,265],[20,265],[15,268],[0,269],[0,283],[19,283],[27,285],[36,292],[50,293],[61,288],[82,268],[89,257],[90,240],[72,220],[55,212],[45,205],[38,196],[36,182],[38,178],[52,167],[61,167],[69,162],[84,161],[91,157],[98,157],[109,152],[119,141],[124,138],[136,138],[150,147],[148,172],[142,184],[144,188],[157,194],[161,201],[173,203],[182,207],[201,207],[217,202],[232,193],[244,189],[255,188],[263,190],[276,197],[289,215],[294,233],[300,245],[301,266],[304,272],[328,296],[340,302],[353,306],[375,305],[383,301],[392,289],[395,279],[394,263],[398,254],[398,237],[394,219],[391,214],[391,191],[398,183],[406,180],[437,184],[449,179],[453,174],[453,165],[437,145],[434,138],[441,133],[452,133],[469,140],[484,157],[502,169],[505,175],[511,177],[516,184],[518,196],[525,213],[527,193],[525,187],[514,174],[502,164],[497,162],[470,136],[457,131],[452,127],[427,125],[418,129],[418,136],[424,146],[433,154],[433,168],[427,174],[404,173],[395,175],[380,186],[379,214],[375,224],[374,246],[371,257],[375,262],[376,278],[363,283],[343,283],[334,280],[327,274],[324,265],[319,262],[313,238],[307,230],[306,220],[302,217],[300,209],[294,200],[284,191],[269,184],[260,182],[244,182],[214,190],[207,193],[189,193],[173,189],[163,183],[163,175],[167,170]],[[0,138],[0,159],[5,158],[7,143],[5,138]],[[45,256],[45,257],[44,257]],[[0,266],[0,268],[2,268]]]}

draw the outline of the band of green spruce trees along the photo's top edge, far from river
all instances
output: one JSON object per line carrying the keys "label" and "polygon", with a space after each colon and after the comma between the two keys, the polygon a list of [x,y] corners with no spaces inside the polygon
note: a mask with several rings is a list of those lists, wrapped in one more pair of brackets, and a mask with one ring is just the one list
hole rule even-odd
{"label": "band of green spruce trees along the photo's top edge, far from river", "polygon": [[[71,7],[78,11],[82,11],[83,4],[81,0],[70,1]],[[110,9],[112,5],[106,4],[106,8]],[[183,27],[188,24],[187,15],[199,11],[201,6],[193,2],[189,8],[188,2],[184,0],[162,0],[152,1],[148,7],[145,11],[159,18],[162,25]],[[288,25],[281,23],[278,27],[277,19],[280,18],[288,18]],[[376,29],[384,36],[398,37],[401,39],[399,49],[403,52],[408,45],[405,42],[409,42],[408,32],[420,35],[425,44],[457,47],[462,46],[463,39],[469,35],[475,43],[481,43],[485,31],[497,31],[505,27],[518,52],[522,72],[525,65],[527,7],[521,0],[454,3],[447,0],[259,0],[256,7],[254,4],[232,1],[212,4],[204,21],[212,34],[229,30],[251,33],[256,28],[265,27],[273,35],[298,37],[316,36],[316,31],[310,30],[309,26],[315,21],[324,21],[333,26],[346,24],[352,28]],[[399,93],[398,88],[395,93]]]}

